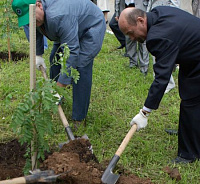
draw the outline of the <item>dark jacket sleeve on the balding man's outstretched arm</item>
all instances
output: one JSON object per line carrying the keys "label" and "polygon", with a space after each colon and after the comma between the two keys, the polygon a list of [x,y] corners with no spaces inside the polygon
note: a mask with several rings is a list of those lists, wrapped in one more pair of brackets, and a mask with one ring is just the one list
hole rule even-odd
{"label": "dark jacket sleeve on the balding man's outstretched arm", "polygon": [[147,49],[155,56],[153,66],[155,79],[151,84],[145,107],[157,109],[170,80],[179,53],[177,45],[168,39],[151,39],[147,41]]}

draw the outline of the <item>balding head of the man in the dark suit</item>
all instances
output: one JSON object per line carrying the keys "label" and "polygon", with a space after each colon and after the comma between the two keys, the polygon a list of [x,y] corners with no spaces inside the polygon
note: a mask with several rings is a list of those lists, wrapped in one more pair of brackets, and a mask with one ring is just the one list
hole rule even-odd
{"label": "balding head of the man in the dark suit", "polygon": [[147,35],[146,12],[134,7],[124,9],[119,17],[119,28],[132,40],[144,42]]}

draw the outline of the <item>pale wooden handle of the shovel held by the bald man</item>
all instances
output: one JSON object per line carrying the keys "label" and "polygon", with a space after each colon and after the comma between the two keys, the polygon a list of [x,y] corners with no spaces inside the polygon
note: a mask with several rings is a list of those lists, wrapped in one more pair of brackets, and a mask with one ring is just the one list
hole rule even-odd
{"label": "pale wooden handle of the shovel held by the bald man", "polygon": [[137,130],[137,125],[134,124],[131,129],[129,130],[129,132],[126,134],[126,137],[124,138],[124,140],[122,141],[121,145],[119,146],[118,150],[116,151],[115,155],[117,156],[121,156],[121,154],[123,153],[124,149],[126,148],[127,144],[129,143],[131,137],[133,136],[133,134],[136,132]]}

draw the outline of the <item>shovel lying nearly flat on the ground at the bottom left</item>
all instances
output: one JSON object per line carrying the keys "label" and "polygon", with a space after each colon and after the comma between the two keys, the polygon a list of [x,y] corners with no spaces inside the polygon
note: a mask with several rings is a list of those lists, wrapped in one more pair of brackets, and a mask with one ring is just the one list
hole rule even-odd
{"label": "shovel lying nearly flat on the ground at the bottom left", "polygon": [[0,181],[0,184],[24,184],[24,183],[49,183],[56,182],[57,178],[60,176],[55,175],[53,170],[40,171],[39,169],[33,171],[32,175],[13,178],[10,180]]}

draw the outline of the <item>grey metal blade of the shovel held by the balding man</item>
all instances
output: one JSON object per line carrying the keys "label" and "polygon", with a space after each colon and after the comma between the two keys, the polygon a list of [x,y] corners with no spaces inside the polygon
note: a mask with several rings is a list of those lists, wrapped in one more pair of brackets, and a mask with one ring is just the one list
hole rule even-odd
{"label": "grey metal blade of the shovel held by the balding man", "polygon": [[104,171],[104,173],[101,177],[101,181],[104,184],[115,184],[117,182],[117,180],[119,179],[120,175],[113,173],[113,169],[115,168],[115,165],[119,161],[119,158],[120,158],[119,156],[114,155],[112,160],[110,161],[108,167]]}

